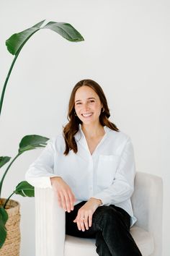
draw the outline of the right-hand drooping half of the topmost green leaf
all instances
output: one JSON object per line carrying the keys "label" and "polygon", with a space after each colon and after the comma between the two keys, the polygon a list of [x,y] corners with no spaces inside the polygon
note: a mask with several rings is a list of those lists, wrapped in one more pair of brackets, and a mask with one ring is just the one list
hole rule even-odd
{"label": "right-hand drooping half of the topmost green leaf", "polygon": [[69,23],[48,22],[48,24],[42,28],[49,28],[71,42],[79,42],[84,40],[82,35]]}

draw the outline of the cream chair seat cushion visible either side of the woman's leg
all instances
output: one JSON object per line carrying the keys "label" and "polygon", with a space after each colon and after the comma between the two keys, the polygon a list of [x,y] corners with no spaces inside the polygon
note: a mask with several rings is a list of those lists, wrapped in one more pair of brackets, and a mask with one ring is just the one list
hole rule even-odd
{"label": "cream chair seat cushion visible either side of the woman's leg", "polygon": [[[136,244],[143,256],[149,256],[153,253],[153,236],[138,226],[130,229]],[[66,235],[64,256],[97,256],[95,239],[85,239]]]}

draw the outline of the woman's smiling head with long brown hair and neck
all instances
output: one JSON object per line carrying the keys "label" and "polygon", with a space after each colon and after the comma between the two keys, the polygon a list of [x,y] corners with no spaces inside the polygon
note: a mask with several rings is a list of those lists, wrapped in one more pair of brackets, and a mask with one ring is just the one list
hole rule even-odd
{"label": "woman's smiling head with long brown hair and neck", "polygon": [[[118,132],[119,129],[115,124],[109,121],[109,116],[107,99],[99,84],[94,80],[78,82],[71,93],[68,106],[69,122],[63,130],[66,142],[64,153],[67,155],[71,149],[74,153],[77,152],[77,145],[73,136],[79,131],[79,124],[82,124],[82,131],[86,136],[86,142],[91,153],[104,136],[104,126]],[[92,149],[90,148],[91,143]]]}

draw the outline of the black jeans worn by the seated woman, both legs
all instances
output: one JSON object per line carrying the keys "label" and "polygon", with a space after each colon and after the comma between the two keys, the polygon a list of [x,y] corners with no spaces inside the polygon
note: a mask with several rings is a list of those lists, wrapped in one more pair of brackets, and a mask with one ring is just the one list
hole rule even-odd
{"label": "black jeans worn by the seated woman, both legs", "polygon": [[130,216],[115,205],[102,205],[93,214],[92,226],[79,231],[73,220],[86,201],[66,212],[66,234],[84,238],[96,238],[97,254],[100,256],[142,256],[130,234]]}

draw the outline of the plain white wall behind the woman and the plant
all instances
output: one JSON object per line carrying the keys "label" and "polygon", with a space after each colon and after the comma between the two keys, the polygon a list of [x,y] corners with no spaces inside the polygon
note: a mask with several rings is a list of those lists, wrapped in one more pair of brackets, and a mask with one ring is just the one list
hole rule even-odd
{"label": "plain white wall behind the woman and the plant", "polygon": [[[85,41],[41,30],[24,46],[1,115],[0,155],[14,156],[24,135],[53,137],[66,122],[79,80],[99,82],[112,121],[133,140],[138,171],[164,180],[164,254],[169,256],[169,25],[167,0],[1,1],[1,89],[13,56],[5,40],[41,20],[71,23]],[[24,153],[6,176],[4,197],[24,179],[40,150]],[[22,253],[35,255],[34,199],[21,203]]]}

